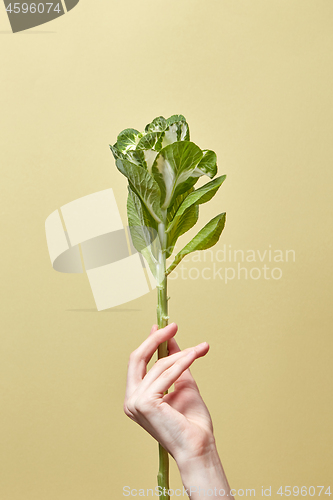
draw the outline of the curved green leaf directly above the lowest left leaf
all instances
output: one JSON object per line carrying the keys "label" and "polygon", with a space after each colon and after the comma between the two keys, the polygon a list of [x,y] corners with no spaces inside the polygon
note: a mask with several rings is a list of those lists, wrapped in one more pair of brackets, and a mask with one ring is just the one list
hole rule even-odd
{"label": "curved green leaf directly above the lowest left leaf", "polygon": [[127,177],[153,219],[160,223],[163,219],[160,207],[161,192],[154,178],[147,170],[127,160],[119,158],[116,160],[116,166]]}

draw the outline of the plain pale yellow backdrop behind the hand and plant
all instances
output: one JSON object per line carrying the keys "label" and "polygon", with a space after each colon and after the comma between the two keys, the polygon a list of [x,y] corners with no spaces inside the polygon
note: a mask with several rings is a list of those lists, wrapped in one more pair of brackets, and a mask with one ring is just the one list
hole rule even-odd
{"label": "plain pale yellow backdrop behind the hand and plant", "polygon": [[227,211],[219,248],[296,252],[281,280],[170,283],[181,347],[211,345],[193,373],[231,486],[329,486],[332,21],[328,0],[82,0],[11,35],[1,6],[1,498],[155,486],[157,446],[122,412],[155,293],[97,313],[44,221],[112,187],[125,223],[108,144],[174,113],[228,175],[200,219]]}

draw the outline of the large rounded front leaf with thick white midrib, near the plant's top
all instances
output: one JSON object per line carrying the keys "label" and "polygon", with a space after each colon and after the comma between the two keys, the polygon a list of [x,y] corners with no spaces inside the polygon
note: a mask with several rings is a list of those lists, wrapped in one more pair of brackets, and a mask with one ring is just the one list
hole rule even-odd
{"label": "large rounded front leaf with thick white midrib, near the plant's top", "polygon": [[[161,190],[161,206],[166,209],[170,206],[172,198],[177,195],[177,188],[194,177],[200,177],[205,172],[197,167],[203,158],[201,149],[193,142],[174,142],[163,148],[152,165],[151,172]],[[186,184],[186,190],[191,186]],[[179,190],[178,190],[179,194]]]}

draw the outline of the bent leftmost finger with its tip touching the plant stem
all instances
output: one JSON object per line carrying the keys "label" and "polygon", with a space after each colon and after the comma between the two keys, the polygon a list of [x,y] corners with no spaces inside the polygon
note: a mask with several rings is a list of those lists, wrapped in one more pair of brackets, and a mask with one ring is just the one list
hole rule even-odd
{"label": "bent leftmost finger with its tip touching the plant stem", "polygon": [[171,323],[160,330],[154,325],[149,337],[132,352],[128,363],[126,394],[131,394],[136,389],[146,375],[147,364],[158,346],[176,335],[177,329],[176,323]]}

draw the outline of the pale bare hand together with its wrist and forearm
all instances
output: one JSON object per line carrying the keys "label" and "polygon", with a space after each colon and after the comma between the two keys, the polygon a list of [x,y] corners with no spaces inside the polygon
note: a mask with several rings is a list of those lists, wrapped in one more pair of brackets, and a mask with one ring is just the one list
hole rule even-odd
{"label": "pale bare hand together with its wrist and forearm", "polygon": [[[209,345],[203,342],[181,351],[174,339],[176,331],[175,324],[160,330],[154,325],[149,337],[132,352],[124,411],[173,456],[191,500],[232,500],[212,420],[189,370],[196,359],[207,354]],[[169,356],[147,372],[153,353],[166,341]],[[166,394],[172,384],[174,390]]]}

